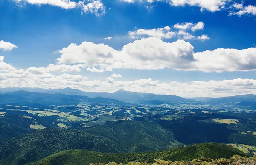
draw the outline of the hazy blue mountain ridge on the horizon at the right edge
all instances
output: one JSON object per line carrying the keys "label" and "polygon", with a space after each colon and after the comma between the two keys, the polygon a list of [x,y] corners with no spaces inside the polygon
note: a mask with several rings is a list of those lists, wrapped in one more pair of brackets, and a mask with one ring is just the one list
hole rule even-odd
{"label": "hazy blue mountain ridge on the horizon at the right edge", "polygon": [[243,101],[255,102],[256,95],[248,94],[248,95],[229,96],[224,98],[212,98],[211,100],[207,101],[207,103],[211,105],[216,105],[221,103],[241,103]]}

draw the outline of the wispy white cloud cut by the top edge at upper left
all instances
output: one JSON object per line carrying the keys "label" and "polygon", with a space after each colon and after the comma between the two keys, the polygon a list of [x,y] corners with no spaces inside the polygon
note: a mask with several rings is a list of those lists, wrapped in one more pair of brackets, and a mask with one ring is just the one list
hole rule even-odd
{"label": "wispy white cloud cut by the top edge at upper left", "polygon": [[93,13],[97,16],[105,14],[105,6],[101,0],[81,0],[79,2],[70,0],[12,0],[17,4],[29,3],[32,5],[51,5],[63,9],[80,8],[83,13]]}

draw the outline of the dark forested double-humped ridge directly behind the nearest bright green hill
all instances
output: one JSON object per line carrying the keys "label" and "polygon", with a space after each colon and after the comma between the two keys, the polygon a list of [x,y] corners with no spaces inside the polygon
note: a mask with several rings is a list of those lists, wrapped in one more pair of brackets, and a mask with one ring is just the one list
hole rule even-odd
{"label": "dark forested double-humped ridge directly behind the nearest bright green hill", "polygon": [[22,165],[69,149],[127,153],[182,145],[153,122],[125,121],[85,130],[46,128],[0,142],[0,163]]}

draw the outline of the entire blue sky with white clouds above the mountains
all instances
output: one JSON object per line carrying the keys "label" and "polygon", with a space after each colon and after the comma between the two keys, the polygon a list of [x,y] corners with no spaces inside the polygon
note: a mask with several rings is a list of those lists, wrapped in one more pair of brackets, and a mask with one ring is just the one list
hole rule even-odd
{"label": "entire blue sky with white clouds above the mountains", "polygon": [[256,94],[256,1],[0,0],[0,87]]}

